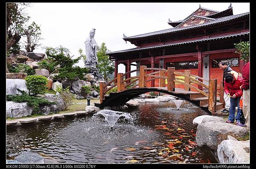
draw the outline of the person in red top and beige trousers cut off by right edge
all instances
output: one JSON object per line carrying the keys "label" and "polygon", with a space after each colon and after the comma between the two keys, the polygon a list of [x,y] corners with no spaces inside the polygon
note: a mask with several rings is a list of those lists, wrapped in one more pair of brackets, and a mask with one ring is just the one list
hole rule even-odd
{"label": "person in red top and beige trousers cut off by right edge", "polygon": [[250,130],[250,61],[244,65],[242,78],[243,112],[246,120],[245,124],[247,129]]}

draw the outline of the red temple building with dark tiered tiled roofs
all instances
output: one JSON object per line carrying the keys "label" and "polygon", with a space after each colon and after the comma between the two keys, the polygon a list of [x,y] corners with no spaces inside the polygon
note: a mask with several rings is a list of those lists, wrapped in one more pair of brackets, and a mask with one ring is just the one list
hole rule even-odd
{"label": "red temple building with dark tiered tiled roofs", "polygon": [[[124,36],[123,39],[136,48],[107,53],[115,61],[115,77],[119,64],[124,64],[128,72],[135,62],[137,68],[146,65],[148,68],[175,67],[175,71],[180,72],[191,70],[191,74],[204,79],[217,79],[219,85],[223,71],[218,62],[225,60],[233,70],[242,72],[244,62],[235,53],[234,43],[249,41],[249,15],[250,12],[233,15],[231,3],[224,11],[199,6],[183,20],[169,20],[173,28]],[[159,80],[155,80],[147,86],[158,84]]]}

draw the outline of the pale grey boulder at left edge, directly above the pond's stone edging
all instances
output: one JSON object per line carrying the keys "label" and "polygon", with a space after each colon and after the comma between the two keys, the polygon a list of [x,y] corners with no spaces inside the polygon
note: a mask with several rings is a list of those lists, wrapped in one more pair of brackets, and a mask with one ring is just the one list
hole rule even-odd
{"label": "pale grey boulder at left edge, directly above the pond's stone edging", "polygon": [[31,114],[32,108],[26,102],[16,103],[14,101],[6,101],[6,117],[19,118]]}

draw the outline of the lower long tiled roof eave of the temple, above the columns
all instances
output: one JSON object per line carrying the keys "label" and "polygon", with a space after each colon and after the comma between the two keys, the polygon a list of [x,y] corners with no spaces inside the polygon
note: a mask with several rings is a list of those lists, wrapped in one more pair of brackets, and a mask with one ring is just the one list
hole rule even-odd
{"label": "lower long tiled roof eave of the temple, above the columns", "polygon": [[197,39],[197,40],[192,40],[192,41],[178,42],[178,43],[172,43],[172,44],[166,44],[166,45],[158,45],[158,46],[151,46],[151,47],[144,47],[144,48],[131,48],[131,49],[123,50],[123,51],[109,52],[106,54],[108,54],[109,56],[113,56],[114,54],[123,54],[123,53],[129,53],[129,52],[134,52],[134,51],[144,51],[144,50],[148,50],[148,49],[164,48],[164,47],[175,46],[175,45],[192,44],[192,43],[196,43],[196,42],[207,42],[207,41],[212,41],[212,40],[217,40],[217,39],[226,39],[226,38],[245,36],[245,35],[249,35],[249,34],[250,34],[250,31],[247,31],[247,32],[239,33],[239,34],[229,34],[229,35],[223,35],[223,36],[218,36],[218,37]]}

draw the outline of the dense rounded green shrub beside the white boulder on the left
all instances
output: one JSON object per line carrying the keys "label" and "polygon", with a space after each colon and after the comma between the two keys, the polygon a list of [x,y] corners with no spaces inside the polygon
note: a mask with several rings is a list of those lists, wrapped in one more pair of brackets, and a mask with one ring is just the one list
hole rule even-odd
{"label": "dense rounded green shrub beside the white boulder on the left", "polygon": [[33,96],[46,93],[48,80],[44,76],[32,75],[25,78],[26,85]]}

